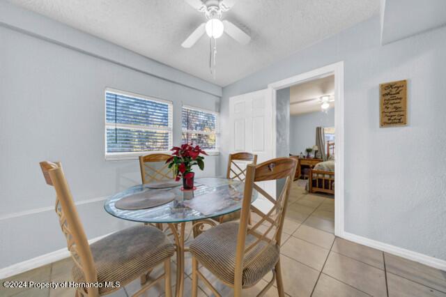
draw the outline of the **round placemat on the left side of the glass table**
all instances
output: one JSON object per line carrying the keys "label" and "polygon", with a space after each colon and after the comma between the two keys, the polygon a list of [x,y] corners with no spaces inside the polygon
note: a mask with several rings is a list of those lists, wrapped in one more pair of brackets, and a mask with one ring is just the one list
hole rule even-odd
{"label": "round placemat on the left side of the glass table", "polygon": [[175,199],[175,194],[169,191],[146,191],[143,193],[130,195],[116,201],[114,206],[126,211],[137,209],[153,208],[162,204],[167,204]]}

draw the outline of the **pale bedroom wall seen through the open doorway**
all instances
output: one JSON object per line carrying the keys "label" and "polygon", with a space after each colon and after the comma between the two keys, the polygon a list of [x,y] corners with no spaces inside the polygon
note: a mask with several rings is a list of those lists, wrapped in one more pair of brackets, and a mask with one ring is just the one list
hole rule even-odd
{"label": "pale bedroom wall seen through the open doorway", "polygon": [[327,113],[319,111],[290,116],[290,153],[307,155],[305,148],[316,144],[316,127],[334,127],[334,108],[328,109]]}

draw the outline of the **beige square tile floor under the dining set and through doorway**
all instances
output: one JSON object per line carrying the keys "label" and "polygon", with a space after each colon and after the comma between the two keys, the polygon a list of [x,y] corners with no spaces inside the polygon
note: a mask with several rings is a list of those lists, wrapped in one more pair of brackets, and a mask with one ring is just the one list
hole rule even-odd
{"label": "beige square tile floor under the dining set and through doorway", "polygon": [[[288,296],[446,297],[445,271],[336,238],[333,232],[334,199],[306,194],[302,188],[293,185],[281,251],[284,287]],[[71,265],[72,261],[66,259],[10,277],[10,280],[70,280]],[[190,296],[190,266],[190,257],[187,257],[184,296]],[[206,269],[201,270],[204,275],[209,275],[211,282],[223,296],[233,295],[231,289],[225,287]],[[160,273],[162,268],[153,271],[151,277],[157,277]],[[175,270],[172,269],[173,276],[174,273]],[[244,296],[259,294],[270,277],[269,273],[255,287],[244,290]],[[175,282],[175,277],[172,280]],[[199,296],[213,296],[202,282],[199,286]],[[136,280],[109,296],[131,296],[138,288],[139,280]],[[158,284],[146,296],[163,296],[163,291],[162,284]],[[0,296],[74,296],[74,291],[7,291],[0,286]],[[277,296],[277,289],[270,288],[266,296]]]}

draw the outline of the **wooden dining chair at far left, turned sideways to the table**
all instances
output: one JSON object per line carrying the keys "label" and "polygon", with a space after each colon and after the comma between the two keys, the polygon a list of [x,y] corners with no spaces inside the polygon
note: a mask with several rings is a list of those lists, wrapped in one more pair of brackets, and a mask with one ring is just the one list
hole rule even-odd
{"label": "wooden dining chair at far left, turned sideways to the table", "polygon": [[165,294],[171,296],[170,258],[175,248],[162,231],[150,226],[135,226],[89,245],[61,163],[44,161],[40,162],[40,167],[47,184],[56,190],[55,210],[75,262],[72,268],[73,280],[77,283],[102,284],[99,288],[78,288],[76,296],[110,294],[119,289],[110,284],[120,282],[123,287],[139,277],[144,276],[146,279],[146,273],[159,264],[164,264],[164,273],[151,283],[141,284],[141,289],[134,296],[139,296],[163,278]]}

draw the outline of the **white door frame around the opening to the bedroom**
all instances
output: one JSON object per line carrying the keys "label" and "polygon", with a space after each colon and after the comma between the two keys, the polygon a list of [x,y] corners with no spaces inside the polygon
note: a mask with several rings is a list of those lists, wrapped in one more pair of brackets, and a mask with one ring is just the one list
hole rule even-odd
{"label": "white door frame around the opening to the bedroom", "polygon": [[[313,79],[334,75],[334,235],[344,234],[344,61],[317,68],[300,75],[268,84],[268,92],[272,96],[272,118],[276,119],[277,91]],[[272,121],[272,139],[276,139],[276,121]],[[324,148],[325,149],[325,148]],[[276,147],[272,155],[277,158]]]}

